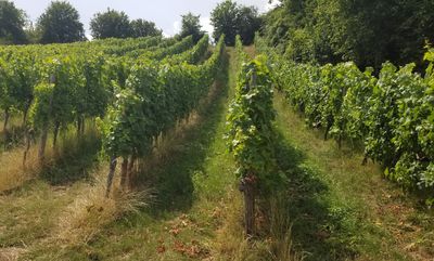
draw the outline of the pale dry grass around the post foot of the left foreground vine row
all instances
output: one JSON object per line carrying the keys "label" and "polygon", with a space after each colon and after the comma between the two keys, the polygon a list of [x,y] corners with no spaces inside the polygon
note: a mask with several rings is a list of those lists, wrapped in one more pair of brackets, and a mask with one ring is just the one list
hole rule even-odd
{"label": "pale dry grass around the post foot of the left foreground vine row", "polygon": [[105,197],[105,182],[99,179],[86,194],[79,195],[60,216],[55,238],[61,245],[84,245],[91,240],[105,225],[126,213],[138,212],[148,206],[151,191],[120,192],[115,187]]}

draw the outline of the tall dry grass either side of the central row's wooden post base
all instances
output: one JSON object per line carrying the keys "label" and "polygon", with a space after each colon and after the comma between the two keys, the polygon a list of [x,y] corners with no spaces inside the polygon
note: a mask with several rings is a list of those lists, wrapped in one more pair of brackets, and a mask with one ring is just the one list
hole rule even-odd
{"label": "tall dry grass either side of the central row's wooden post base", "polygon": [[[292,248],[291,224],[289,223],[283,200],[272,197],[269,201],[268,222],[261,230],[267,238],[246,239],[243,227],[242,195],[230,192],[226,206],[224,223],[217,232],[214,257],[218,261],[299,261],[303,256]],[[260,232],[259,232],[260,233]]]}

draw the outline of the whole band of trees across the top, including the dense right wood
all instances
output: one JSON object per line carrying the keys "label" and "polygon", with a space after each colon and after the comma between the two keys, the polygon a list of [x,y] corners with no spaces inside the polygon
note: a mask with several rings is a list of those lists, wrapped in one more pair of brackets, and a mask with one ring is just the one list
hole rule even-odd
{"label": "whole band of trees across the top, including the dense right wood", "polygon": [[[0,43],[86,40],[78,11],[68,2],[52,2],[35,27],[26,17],[13,2],[0,0]],[[200,15],[181,17],[178,37],[201,39]],[[273,10],[259,14],[254,6],[222,0],[210,12],[210,24],[215,41],[226,35],[226,44],[234,45],[240,35],[248,45],[255,31],[260,31],[268,45],[296,62],[354,61],[360,68],[372,66],[376,71],[385,61],[416,62],[421,70],[425,48],[434,41],[434,1],[281,0]],[[90,29],[95,39],[162,35],[153,22],[131,21],[125,12],[111,9],[94,14]]]}

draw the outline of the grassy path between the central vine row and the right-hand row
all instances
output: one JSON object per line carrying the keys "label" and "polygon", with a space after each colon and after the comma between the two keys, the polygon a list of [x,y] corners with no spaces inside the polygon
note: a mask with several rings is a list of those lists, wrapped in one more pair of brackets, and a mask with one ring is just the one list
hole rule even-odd
{"label": "grassy path between the central vine row and the right-hand row", "polygon": [[291,177],[295,248],[306,260],[434,260],[433,213],[382,179],[362,155],[308,129],[276,93]]}

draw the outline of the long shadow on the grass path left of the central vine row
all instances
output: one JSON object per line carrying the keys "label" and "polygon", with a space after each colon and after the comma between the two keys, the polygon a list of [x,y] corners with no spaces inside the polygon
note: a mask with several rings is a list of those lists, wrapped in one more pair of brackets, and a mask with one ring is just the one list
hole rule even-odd
{"label": "long shadow on the grass path left of the central vine row", "polygon": [[[228,62],[226,55],[222,68],[228,68]],[[183,211],[192,206],[192,175],[197,171],[204,172],[204,161],[213,139],[222,139],[215,133],[221,116],[226,114],[224,101],[228,97],[228,71],[224,69],[216,81],[215,92],[199,107],[196,120],[181,130],[179,139],[170,140],[163,158],[156,159],[152,167],[132,181],[136,186],[155,190],[155,203],[148,210],[152,214]]]}

